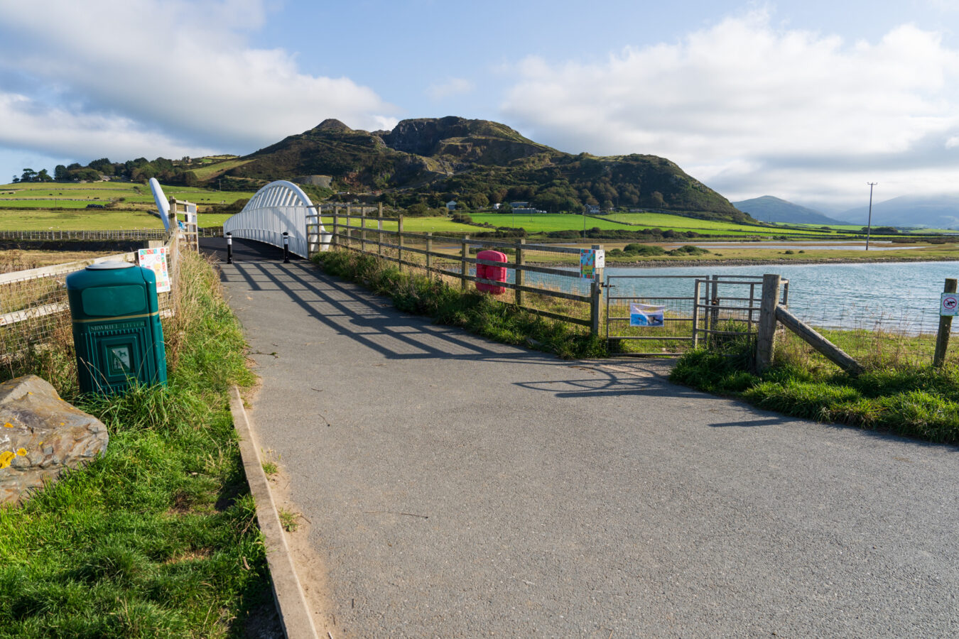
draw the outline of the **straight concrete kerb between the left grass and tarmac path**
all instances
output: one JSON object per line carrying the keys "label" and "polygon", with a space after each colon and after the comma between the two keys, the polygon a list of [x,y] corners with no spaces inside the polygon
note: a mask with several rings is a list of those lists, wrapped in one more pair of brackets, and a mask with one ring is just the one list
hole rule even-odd
{"label": "straight concrete kerb between the left grass and tarmac path", "polygon": [[267,548],[269,575],[273,582],[273,598],[283,624],[283,631],[289,639],[316,639],[316,626],[306,603],[303,587],[293,566],[290,548],[287,545],[280,516],[276,512],[273,495],[269,491],[267,475],[260,459],[260,445],[256,441],[240,389],[233,386],[230,390],[230,412],[233,413],[233,425],[240,436],[240,455],[243,457],[246,482],[256,503],[256,519],[263,532]]}

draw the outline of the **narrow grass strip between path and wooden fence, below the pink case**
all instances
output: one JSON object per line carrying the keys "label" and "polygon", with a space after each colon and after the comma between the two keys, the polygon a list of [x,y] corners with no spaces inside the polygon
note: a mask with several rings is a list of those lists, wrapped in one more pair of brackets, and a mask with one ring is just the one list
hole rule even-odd
{"label": "narrow grass strip between path and wooden fence, below the pink case", "polygon": [[427,315],[437,324],[567,359],[608,354],[605,340],[591,336],[589,331],[503,304],[476,289],[462,292],[442,280],[402,272],[376,256],[330,251],[318,253],[313,259],[327,273],[385,295],[396,308]]}

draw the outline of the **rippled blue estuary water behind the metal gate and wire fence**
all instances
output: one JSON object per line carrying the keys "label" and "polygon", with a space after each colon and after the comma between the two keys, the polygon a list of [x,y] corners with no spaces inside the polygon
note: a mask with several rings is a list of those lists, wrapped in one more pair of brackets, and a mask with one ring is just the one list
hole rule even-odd
{"label": "rippled blue estuary water behind the metal gate and wire fence", "polygon": [[[789,309],[816,326],[935,332],[946,278],[959,278],[959,262],[760,264],[605,269],[606,275],[763,275],[789,280]],[[614,295],[691,296],[690,280],[619,280]],[[954,322],[953,331],[959,329]]]}

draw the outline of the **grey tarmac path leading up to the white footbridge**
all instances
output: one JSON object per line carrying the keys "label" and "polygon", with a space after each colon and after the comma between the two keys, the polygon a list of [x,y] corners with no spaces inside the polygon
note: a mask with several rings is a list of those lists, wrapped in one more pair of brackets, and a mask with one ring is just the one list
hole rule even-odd
{"label": "grey tarmac path leading up to the white footbridge", "polygon": [[959,457],[433,326],[308,262],[222,278],[335,639],[959,636]]}

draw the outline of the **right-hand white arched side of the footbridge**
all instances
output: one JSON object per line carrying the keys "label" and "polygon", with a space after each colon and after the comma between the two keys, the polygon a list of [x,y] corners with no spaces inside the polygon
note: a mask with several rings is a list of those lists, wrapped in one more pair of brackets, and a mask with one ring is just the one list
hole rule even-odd
{"label": "right-hand white arched side of the footbridge", "polygon": [[223,222],[223,233],[234,238],[283,246],[283,232],[290,234],[290,252],[301,258],[319,249],[326,229],[309,195],[292,182],[270,182],[253,195],[243,211]]}

